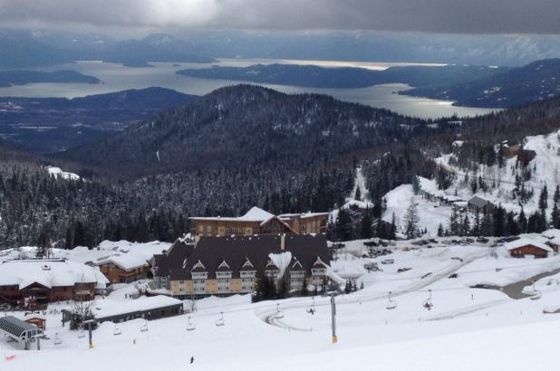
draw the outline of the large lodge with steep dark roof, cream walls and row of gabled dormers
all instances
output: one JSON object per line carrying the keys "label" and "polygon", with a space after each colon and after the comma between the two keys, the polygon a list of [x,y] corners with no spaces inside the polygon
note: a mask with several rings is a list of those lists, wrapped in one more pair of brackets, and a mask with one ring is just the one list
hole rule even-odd
{"label": "large lodge with steep dark roof, cream walls and row of gabled dormers", "polygon": [[255,290],[257,271],[294,294],[304,286],[323,290],[330,252],[324,234],[203,236],[196,244],[178,240],[155,255],[154,281],[176,298],[227,296]]}

